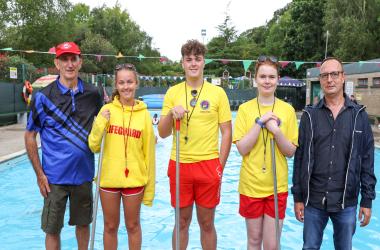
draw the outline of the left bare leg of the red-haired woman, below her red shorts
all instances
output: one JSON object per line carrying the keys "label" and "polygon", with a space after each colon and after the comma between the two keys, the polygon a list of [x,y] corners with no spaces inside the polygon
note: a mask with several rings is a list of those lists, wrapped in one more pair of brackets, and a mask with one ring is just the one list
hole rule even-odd
{"label": "left bare leg of the red-haired woman, below her red shorts", "polygon": [[248,250],[261,250],[263,242],[263,220],[263,216],[256,219],[245,219]]}

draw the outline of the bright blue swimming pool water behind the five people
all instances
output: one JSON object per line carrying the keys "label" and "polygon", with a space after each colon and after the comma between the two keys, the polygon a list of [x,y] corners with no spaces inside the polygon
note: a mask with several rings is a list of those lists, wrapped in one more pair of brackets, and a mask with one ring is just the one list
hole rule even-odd
{"label": "bright blue swimming pool water behind the five people", "polygon": [[[171,138],[158,140],[156,198],[153,207],[142,206],[141,212],[143,249],[171,249],[174,211],[169,203],[169,183],[166,175],[170,149]],[[291,180],[293,161],[290,159],[288,162]],[[223,175],[221,203],[216,210],[218,249],[246,249],[245,222],[238,215],[237,188],[240,164],[241,157],[233,145]],[[379,177],[379,149],[375,152],[375,166],[376,176]],[[40,229],[43,199],[27,157],[21,156],[0,164],[0,176],[0,249],[43,249],[45,235]],[[291,184],[289,188],[290,186]],[[380,185],[377,185],[376,193],[378,198],[373,203],[371,223],[365,228],[360,228],[358,223],[353,249],[380,249]],[[67,221],[66,216],[61,234],[62,249],[76,249],[74,227],[68,226]],[[103,217],[99,206],[96,249],[103,249],[102,233]],[[302,247],[302,224],[294,217],[292,196],[288,199],[281,245],[282,249]],[[127,234],[122,221],[119,228],[119,249],[127,248]],[[325,230],[322,249],[333,248],[332,225],[329,223]],[[201,249],[195,214],[190,227],[188,249]]]}

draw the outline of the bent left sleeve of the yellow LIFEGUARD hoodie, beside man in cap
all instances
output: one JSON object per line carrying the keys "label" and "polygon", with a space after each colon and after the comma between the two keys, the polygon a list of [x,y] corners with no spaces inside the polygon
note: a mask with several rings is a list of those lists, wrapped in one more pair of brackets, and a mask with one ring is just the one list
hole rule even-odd
{"label": "bent left sleeve of the yellow LIFEGUARD hoodie, beside man in cap", "polygon": [[100,144],[102,143],[102,136],[104,129],[107,127],[108,121],[102,116],[103,108],[100,109],[94,123],[92,124],[91,133],[88,136],[88,146],[93,153],[100,151]]}

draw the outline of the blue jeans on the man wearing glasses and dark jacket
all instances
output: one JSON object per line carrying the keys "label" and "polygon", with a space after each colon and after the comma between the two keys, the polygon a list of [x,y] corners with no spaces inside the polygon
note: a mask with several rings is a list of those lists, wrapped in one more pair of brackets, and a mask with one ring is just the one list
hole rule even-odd
{"label": "blue jeans on the man wearing glasses and dark jacket", "polygon": [[334,228],[335,249],[352,249],[352,236],[356,228],[356,206],[346,207],[339,212],[327,212],[308,205],[305,207],[304,216],[302,249],[320,249],[323,231],[329,218]]}

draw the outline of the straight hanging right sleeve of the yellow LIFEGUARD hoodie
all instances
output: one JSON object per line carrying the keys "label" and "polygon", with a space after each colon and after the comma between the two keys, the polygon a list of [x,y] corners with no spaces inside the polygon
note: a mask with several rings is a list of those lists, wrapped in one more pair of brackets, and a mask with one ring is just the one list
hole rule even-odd
{"label": "straight hanging right sleeve of the yellow LIFEGUARD hoodie", "polygon": [[153,131],[152,118],[148,111],[146,111],[145,121],[143,151],[148,173],[148,182],[144,190],[143,204],[152,206],[156,185],[156,136]]}

